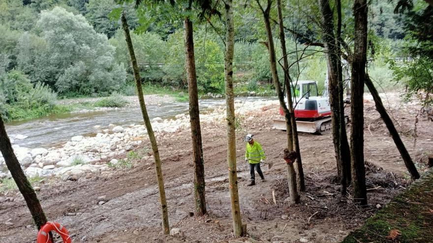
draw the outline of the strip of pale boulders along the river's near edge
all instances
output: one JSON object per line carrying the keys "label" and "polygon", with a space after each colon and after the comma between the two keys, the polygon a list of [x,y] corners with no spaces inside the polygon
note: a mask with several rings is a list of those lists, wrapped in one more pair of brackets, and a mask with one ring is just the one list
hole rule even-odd
{"label": "strip of pale boulders along the river's near edge", "polygon": [[[277,101],[240,101],[235,103],[236,114],[243,115],[251,110],[277,106]],[[218,106],[212,111],[200,115],[202,124],[224,122],[225,107]],[[247,119],[247,118],[246,118]],[[173,119],[156,117],[152,127],[158,138],[161,134],[175,133],[189,129],[189,115],[178,114]],[[139,147],[147,140],[147,131],[143,124],[130,124],[127,127],[110,124],[108,127],[95,125],[94,134],[75,135],[64,144],[49,149],[29,149],[13,145],[18,161],[28,177],[56,177],[62,180],[78,180],[87,174],[107,174],[113,165],[119,162],[115,158],[125,157],[128,151]],[[14,139],[26,139],[25,135],[16,135]],[[0,171],[5,169],[4,159],[0,157]],[[0,172],[0,178],[10,177],[9,172]]]}

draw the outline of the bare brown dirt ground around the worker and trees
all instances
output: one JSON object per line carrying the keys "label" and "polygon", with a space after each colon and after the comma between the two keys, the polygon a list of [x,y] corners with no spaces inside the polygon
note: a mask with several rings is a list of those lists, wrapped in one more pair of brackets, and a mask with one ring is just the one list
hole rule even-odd
{"label": "bare brown dirt ground around the worker and trees", "polygon": [[[428,155],[433,152],[433,123],[420,116],[415,136],[414,121],[419,107],[413,103],[390,104],[402,139],[422,172]],[[249,116],[253,119],[247,119]],[[243,128],[238,133],[239,197],[242,219],[247,223],[245,238],[232,237],[224,124],[202,127],[209,212],[204,217],[189,216],[189,212],[194,212],[190,132],[159,137],[170,225],[180,228],[183,237],[162,234],[152,157],[112,175],[66,182],[48,180],[37,194],[48,218],[61,222],[74,243],[225,243],[247,239],[250,242],[331,243],[340,242],[374,214],[378,210],[376,206],[383,207],[409,184],[400,154],[374,104],[367,100],[365,159],[369,206],[359,208],[350,202],[350,196],[340,195],[340,186],[334,180],[336,164],[331,134],[300,134],[307,191],[302,193],[300,204],[289,205],[284,202],[288,193],[286,166],[282,160],[286,136],[285,132],[271,129],[272,118],[278,117],[278,107],[251,112],[243,117]],[[242,142],[246,133],[254,134],[265,150],[267,161],[274,162],[271,169],[262,166],[266,181],[258,180],[254,187],[247,187],[249,171],[244,162],[245,144]],[[277,205],[273,202],[273,190]],[[0,198],[0,243],[35,242],[37,230],[31,225],[31,215],[22,196],[15,191],[3,193]],[[100,200],[105,203],[99,205]]]}

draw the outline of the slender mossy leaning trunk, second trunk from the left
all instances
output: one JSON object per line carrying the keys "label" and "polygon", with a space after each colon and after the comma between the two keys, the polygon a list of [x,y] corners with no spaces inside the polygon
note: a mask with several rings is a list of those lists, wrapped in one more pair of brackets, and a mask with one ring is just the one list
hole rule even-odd
{"label": "slender mossy leaning trunk, second trunk from the left", "polygon": [[156,138],[154,131],[152,129],[151,121],[149,119],[149,115],[147,113],[146,104],[144,102],[143,89],[141,87],[141,78],[140,73],[138,71],[137,59],[135,58],[134,48],[132,46],[131,36],[129,35],[129,27],[126,22],[125,12],[122,13],[122,27],[125,32],[125,40],[128,46],[129,55],[131,57],[132,70],[134,73],[135,83],[137,85],[138,91],[138,100],[140,102],[141,113],[143,115],[143,120],[146,125],[147,133],[149,135],[149,140],[152,144],[152,151],[154,152],[155,159],[155,170],[156,170],[156,178],[158,181],[159,188],[159,199],[161,201],[161,217],[162,217],[162,229],[165,234],[170,233],[170,225],[168,223],[168,209],[167,209],[167,200],[165,199],[165,189],[164,189],[164,180],[162,178],[162,169],[161,169],[161,160],[159,159],[159,151],[158,144],[156,143]]}

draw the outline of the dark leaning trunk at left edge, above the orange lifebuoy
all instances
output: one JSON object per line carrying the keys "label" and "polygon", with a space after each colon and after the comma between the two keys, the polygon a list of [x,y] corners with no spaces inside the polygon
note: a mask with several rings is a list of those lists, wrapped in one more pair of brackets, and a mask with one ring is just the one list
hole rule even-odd
{"label": "dark leaning trunk at left edge, above the orange lifebuoy", "polygon": [[47,218],[42,210],[42,207],[37,199],[36,193],[29,180],[27,180],[23,169],[21,168],[20,162],[18,162],[15,156],[12,145],[10,144],[9,137],[6,134],[6,129],[4,128],[3,119],[0,115],[0,151],[3,155],[4,162],[6,162],[7,169],[9,169],[12,178],[17,184],[18,189],[26,200],[27,207],[30,210],[31,216],[33,217],[34,223],[39,230],[44,224],[47,223]]}

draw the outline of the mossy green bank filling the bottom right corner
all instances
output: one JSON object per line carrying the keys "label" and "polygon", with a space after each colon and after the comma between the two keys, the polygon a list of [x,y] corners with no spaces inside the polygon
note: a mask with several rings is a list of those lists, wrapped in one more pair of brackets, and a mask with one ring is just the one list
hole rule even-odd
{"label": "mossy green bank filling the bottom right corner", "polygon": [[[342,243],[433,242],[433,170],[415,181]],[[398,235],[390,239],[390,232]]]}

